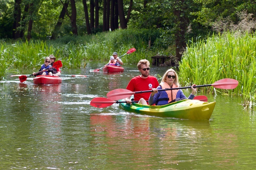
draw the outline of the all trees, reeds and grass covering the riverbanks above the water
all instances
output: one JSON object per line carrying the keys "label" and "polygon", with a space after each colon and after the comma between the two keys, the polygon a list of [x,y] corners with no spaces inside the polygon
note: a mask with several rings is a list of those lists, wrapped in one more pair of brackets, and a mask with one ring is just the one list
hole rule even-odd
{"label": "all trees, reeds and grass covering the riverbanks above the water", "polygon": [[0,79],[25,68],[37,71],[49,54],[64,68],[84,68],[91,60],[108,61],[114,51],[120,56],[136,48],[122,58],[125,63],[172,55],[180,65],[182,85],[237,79],[236,89],[221,92],[243,96],[245,107],[255,104],[255,3],[6,0],[0,4]]}

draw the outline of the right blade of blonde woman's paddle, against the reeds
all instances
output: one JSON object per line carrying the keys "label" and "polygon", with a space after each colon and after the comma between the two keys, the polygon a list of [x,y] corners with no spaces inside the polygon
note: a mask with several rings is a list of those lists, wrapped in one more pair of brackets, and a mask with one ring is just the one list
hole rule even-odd
{"label": "right blade of blonde woman's paddle, against the reeds", "polygon": [[238,86],[238,81],[234,79],[221,79],[212,84],[213,87],[221,89],[234,89]]}

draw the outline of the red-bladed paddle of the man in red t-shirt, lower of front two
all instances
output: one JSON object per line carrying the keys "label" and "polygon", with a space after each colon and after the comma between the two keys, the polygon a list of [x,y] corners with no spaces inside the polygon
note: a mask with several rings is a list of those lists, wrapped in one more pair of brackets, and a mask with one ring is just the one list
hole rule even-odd
{"label": "red-bladed paddle of the man in red t-shirt, lower of front two", "polygon": [[[200,101],[207,102],[208,99],[206,96],[195,96],[193,100],[200,100]],[[131,102],[138,103],[139,101],[131,101]],[[91,100],[90,105],[94,107],[104,108],[104,107],[111,106],[114,103],[126,103],[126,101],[114,101],[109,98],[96,97],[93,100]]]}

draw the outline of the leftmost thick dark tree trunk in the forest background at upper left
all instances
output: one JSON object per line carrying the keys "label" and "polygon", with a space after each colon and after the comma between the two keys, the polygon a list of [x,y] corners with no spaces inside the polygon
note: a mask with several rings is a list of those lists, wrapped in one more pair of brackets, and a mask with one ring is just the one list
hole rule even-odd
{"label": "leftmost thick dark tree trunk in the forest background at upper left", "polygon": [[14,22],[12,27],[12,36],[14,39],[20,37],[20,31],[17,29],[20,26],[20,18],[21,18],[21,9],[20,3],[22,0],[15,0],[14,1]]}

